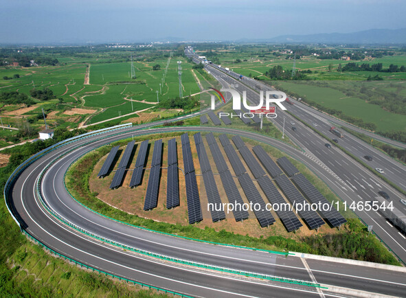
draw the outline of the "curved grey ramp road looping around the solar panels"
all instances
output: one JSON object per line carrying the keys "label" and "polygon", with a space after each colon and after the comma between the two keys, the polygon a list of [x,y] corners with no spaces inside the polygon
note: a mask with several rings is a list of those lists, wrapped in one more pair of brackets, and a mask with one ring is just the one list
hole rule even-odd
{"label": "curved grey ramp road looping around the solar panels", "polygon": [[[236,133],[225,128],[197,128],[201,131],[218,131],[221,133]],[[183,260],[194,260],[205,264],[215,264],[226,268],[242,269],[256,273],[289,277],[312,281],[312,277],[321,284],[335,285],[343,288],[356,288],[374,293],[387,295],[401,295],[405,293],[405,273],[396,273],[387,270],[376,270],[362,266],[332,264],[328,262],[308,260],[304,265],[300,257],[284,257],[263,253],[234,249],[232,247],[218,247],[212,244],[202,244],[181,238],[164,236],[142,229],[136,229],[121,223],[104,218],[82,207],[66,192],[63,187],[63,176],[69,164],[82,154],[117,139],[131,137],[145,133],[162,133],[190,128],[155,128],[150,130],[133,130],[123,135],[112,136],[67,153],[58,159],[43,177],[41,190],[49,207],[55,209],[61,216],[70,222],[111,240],[125,243],[139,249],[153,251],[181,257]],[[241,132],[238,132],[241,135]],[[306,159],[300,151],[291,148],[280,141],[262,137],[254,133],[243,133],[244,137],[267,141],[267,144],[286,150],[297,158]],[[292,295],[315,296],[319,295],[314,288],[305,286],[292,286],[277,282],[261,282],[260,280],[245,280],[232,275],[218,275],[207,273],[194,268],[179,268],[173,264],[162,264],[157,260],[148,260],[139,255],[115,249],[93,239],[80,235],[67,227],[63,222],[56,220],[38,202],[35,196],[35,183],[38,175],[45,165],[64,150],[76,146],[69,144],[59,150],[47,154],[39,159],[19,177],[13,187],[12,199],[16,211],[27,225],[27,232],[40,239],[55,251],[94,266],[109,273],[122,277],[142,281],[153,286],[159,286],[180,293],[203,297],[235,297],[244,295],[251,297],[269,297],[272,290],[275,297],[291,297]],[[314,161],[308,159],[308,163]],[[307,267],[307,268],[306,268]],[[310,271],[310,272],[309,272]],[[354,276],[354,273],[357,273]],[[194,286],[193,286],[194,285]],[[323,290],[328,296],[328,290]]]}

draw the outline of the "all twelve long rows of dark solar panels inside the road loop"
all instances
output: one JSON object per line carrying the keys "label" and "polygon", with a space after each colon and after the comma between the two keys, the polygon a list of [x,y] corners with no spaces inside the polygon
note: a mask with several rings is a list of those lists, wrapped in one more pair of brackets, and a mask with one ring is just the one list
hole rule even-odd
{"label": "all twelve long rows of dark solar panels inside the road loop", "polygon": [[[220,174],[221,181],[223,183],[223,188],[229,200],[229,203],[240,203],[243,204],[243,199],[238,192],[236,187],[236,183],[232,177],[231,172],[223,158],[223,154],[221,153],[218,145],[216,143],[216,138],[212,133],[206,135],[207,143],[210,146],[210,150],[212,152],[212,157],[214,159],[214,163],[216,164],[216,168],[218,173]],[[265,227],[271,225],[275,222],[275,219],[271,215],[269,211],[264,208],[264,200],[260,196],[260,193],[256,189],[255,185],[253,184],[245,166],[240,161],[236,150],[229,141],[227,135],[221,135],[219,137],[221,144],[225,150],[227,158],[232,165],[232,168],[235,174],[238,177],[238,181],[240,185],[243,187],[243,191],[247,196],[248,200],[252,204],[260,205],[260,210],[254,211],[258,221],[260,222],[261,227]],[[183,165],[184,165],[184,174],[185,174],[185,181],[186,181],[186,194],[188,199],[188,214],[189,214],[189,222],[199,222],[202,220],[202,213],[201,213],[201,205],[199,199],[199,190],[197,189],[196,183],[196,174],[194,170],[194,164],[192,159],[192,153],[190,151],[190,140],[188,134],[184,134],[181,136],[182,140],[182,151],[183,151]],[[264,170],[261,168],[260,164],[258,163],[257,159],[253,156],[251,151],[245,146],[244,141],[239,136],[234,136],[232,138],[236,148],[243,157],[245,163],[247,163],[249,170],[253,174],[253,176],[257,179],[260,188],[264,192],[265,196],[267,196],[270,203],[274,204],[286,204],[284,198],[280,195],[278,190],[276,189],[275,185],[273,185],[271,179],[267,176]],[[205,146],[203,144],[203,139],[200,133],[194,135],[194,141],[196,144],[196,150],[198,152],[199,163],[201,165],[201,172],[203,174],[203,182],[205,183],[205,191],[207,194],[207,200],[212,205],[221,205],[221,199],[218,194],[218,189],[216,186],[216,182],[214,179],[214,174],[212,172],[212,168],[207,157],[207,152],[205,150]],[[124,152],[124,157],[122,161],[120,161],[120,165],[115,173],[115,177],[113,178],[111,185],[120,185],[122,183],[122,176],[124,176],[124,172],[126,169],[126,165],[128,164],[128,160],[131,156],[131,152],[133,150],[134,142],[128,143],[128,146]],[[108,172],[113,159],[115,158],[115,154],[117,153],[118,147],[112,148],[109,156],[107,157],[104,165],[102,166],[102,170],[99,172],[99,176],[105,175],[106,171]],[[146,152],[148,150],[148,141],[142,142],[140,146],[140,150],[138,153],[137,161],[135,163],[135,170],[144,168],[144,163],[146,159]],[[148,181],[148,187],[146,192],[146,200],[144,203],[144,209],[153,209],[157,206],[157,197],[159,192],[159,180],[161,174],[161,150],[162,150],[162,141],[155,141],[154,152],[153,152],[153,162],[152,168],[150,170],[150,178]],[[318,190],[302,175],[299,173],[297,168],[288,160],[286,157],[282,157],[278,159],[278,164],[280,167],[286,172],[288,176],[293,176],[292,181],[295,183],[297,188],[306,196],[300,193],[299,190],[293,185],[291,180],[289,180],[283,172],[280,170],[278,165],[269,157],[267,152],[261,146],[255,146],[253,148],[253,152],[258,157],[258,160],[264,166],[265,170],[269,173],[269,175],[275,179],[275,183],[280,187],[282,193],[286,196],[289,200],[289,203],[292,205],[294,203],[301,203],[302,205],[308,204],[307,200],[310,203],[322,203],[322,204],[330,204],[328,200],[322,196],[318,192]],[[107,170],[106,170],[107,168]],[[133,177],[136,176],[136,172],[133,172]],[[116,178],[117,176],[117,178]],[[121,177],[121,180],[120,180]],[[133,177],[131,180],[133,180]],[[117,182],[120,180],[120,183]],[[114,183],[113,183],[114,182]],[[117,184],[118,183],[118,184]],[[117,187],[117,186],[116,186]],[[115,187],[111,187],[115,188]],[[176,140],[171,139],[168,142],[168,185],[167,185],[167,208],[176,207],[179,205],[179,179],[178,179],[178,171],[177,171],[177,146]],[[295,206],[294,206],[295,207]],[[212,220],[218,221],[225,218],[224,211],[216,211],[215,209],[210,209],[212,213]],[[243,210],[234,210],[234,218],[238,220],[243,220],[248,218],[249,214],[247,211]],[[328,211],[320,211],[322,216],[326,219],[332,227],[337,227],[346,220],[339,214],[339,212],[334,208],[330,208]],[[282,210],[277,212],[278,216],[282,220],[282,223],[286,227],[288,231],[294,231],[302,227],[300,220],[297,219],[293,211],[291,210]],[[304,209],[303,211],[298,212],[298,214],[303,218],[306,222],[306,225],[311,229],[317,229],[318,227],[324,225],[324,221],[317,212],[312,211],[311,209]]]}

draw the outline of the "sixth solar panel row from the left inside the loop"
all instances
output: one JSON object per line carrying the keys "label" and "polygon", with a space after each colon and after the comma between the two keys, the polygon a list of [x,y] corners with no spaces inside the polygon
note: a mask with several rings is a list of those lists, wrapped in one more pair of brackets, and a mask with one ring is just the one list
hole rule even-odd
{"label": "sixth solar panel row from the left inside the loop", "polygon": [[187,133],[181,135],[181,140],[189,224],[193,224],[194,222],[203,220],[203,217],[201,214],[200,197],[197,188],[196,173],[194,172],[192,151],[190,150],[189,135]]}

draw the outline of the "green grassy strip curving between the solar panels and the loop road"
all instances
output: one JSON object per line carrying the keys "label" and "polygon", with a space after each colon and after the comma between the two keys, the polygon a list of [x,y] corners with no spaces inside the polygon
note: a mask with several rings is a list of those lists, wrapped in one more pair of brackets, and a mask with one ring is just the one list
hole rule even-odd
{"label": "green grassy strip curving between the solar panels and the loop road", "polygon": [[[163,135],[153,135],[153,138],[158,139],[161,137],[163,137]],[[147,136],[145,136],[145,138],[147,138]],[[148,136],[148,139],[151,139],[151,135]],[[139,139],[139,141],[141,140],[142,138]],[[302,238],[302,241],[297,241],[282,236],[255,238],[225,230],[215,231],[215,229],[209,227],[199,229],[194,225],[173,225],[166,222],[145,219],[137,215],[127,214],[124,211],[115,209],[114,207],[103,203],[96,197],[97,193],[89,190],[89,177],[91,176],[93,168],[108,152],[108,146],[90,152],[79,159],[69,169],[66,176],[66,183],[69,192],[71,192],[80,203],[104,216],[109,216],[110,218],[126,222],[130,225],[211,242],[221,242],[273,251],[315,253],[399,265],[395,257],[387,251],[387,249],[385,249],[385,247],[383,247],[374,236],[366,231],[365,226],[362,225],[358,219],[348,219],[348,223],[344,225],[337,235],[308,236]]]}

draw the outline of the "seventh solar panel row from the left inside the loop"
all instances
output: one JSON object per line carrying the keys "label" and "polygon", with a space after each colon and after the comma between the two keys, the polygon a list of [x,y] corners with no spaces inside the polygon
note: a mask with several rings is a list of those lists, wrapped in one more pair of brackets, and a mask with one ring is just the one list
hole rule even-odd
{"label": "seventh solar panel row from the left inside the loop", "polygon": [[221,198],[218,194],[216,180],[212,172],[212,166],[210,165],[209,158],[203,139],[200,133],[194,135],[194,144],[196,144],[197,156],[199,157],[199,163],[201,172],[203,174],[203,182],[205,183],[205,191],[207,194],[207,200],[213,206],[210,208],[213,222],[225,219],[225,212],[223,210],[216,211],[216,206],[221,206]]}

